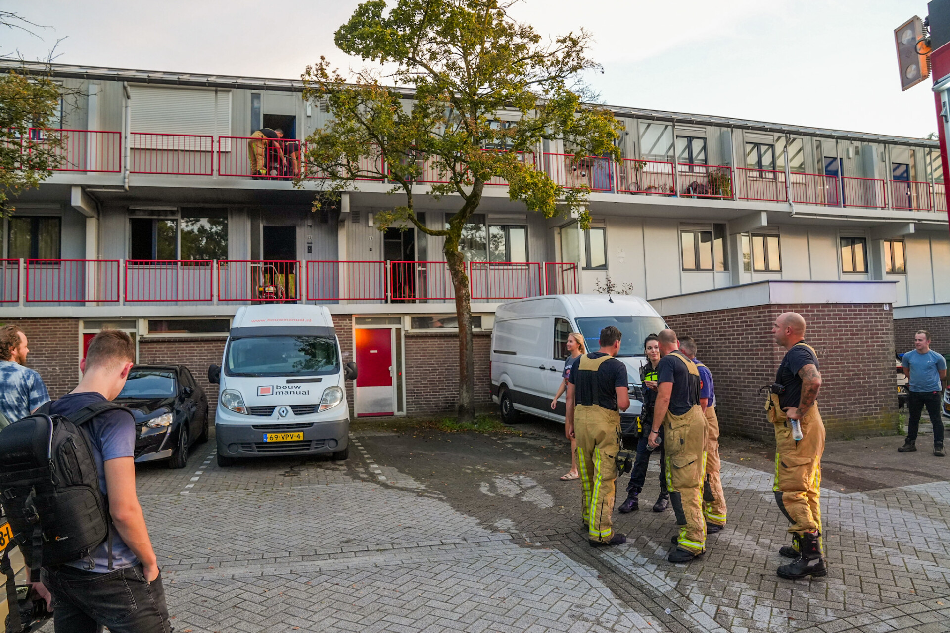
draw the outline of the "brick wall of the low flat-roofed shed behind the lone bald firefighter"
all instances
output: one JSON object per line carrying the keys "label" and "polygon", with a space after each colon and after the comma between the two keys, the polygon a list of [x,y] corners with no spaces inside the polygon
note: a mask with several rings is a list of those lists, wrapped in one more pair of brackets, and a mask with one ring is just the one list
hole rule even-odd
{"label": "brick wall of the low flat-roofed shed behind the lone bald firefighter", "polygon": [[881,304],[737,307],[664,317],[690,335],[712,371],[723,433],[773,438],[757,390],[775,380],[785,350],[773,343],[775,316],[798,312],[806,342],[818,353],[819,409],[829,438],[888,433],[897,428],[894,320]]}

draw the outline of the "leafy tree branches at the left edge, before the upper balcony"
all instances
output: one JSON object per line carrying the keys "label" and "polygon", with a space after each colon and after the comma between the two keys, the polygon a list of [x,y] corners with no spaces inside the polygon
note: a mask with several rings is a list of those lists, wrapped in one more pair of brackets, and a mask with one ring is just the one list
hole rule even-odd
{"label": "leafy tree branches at the left edge, before the upper balcony", "polygon": [[[28,30],[21,23],[36,26],[0,11],[0,27]],[[13,211],[10,196],[38,186],[59,164],[65,138],[46,130],[60,98],[60,86],[47,75],[10,70],[0,76],[0,217]]]}

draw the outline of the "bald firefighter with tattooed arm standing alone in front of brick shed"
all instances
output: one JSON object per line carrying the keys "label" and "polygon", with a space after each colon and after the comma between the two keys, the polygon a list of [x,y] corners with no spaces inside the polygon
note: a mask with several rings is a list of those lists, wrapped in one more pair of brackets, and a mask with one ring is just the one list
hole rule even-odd
{"label": "bald firefighter with tattooed arm standing alone in front of brick shed", "polygon": [[[818,413],[818,390],[822,375],[818,357],[805,342],[805,319],[796,312],[784,312],[772,325],[775,343],[788,351],[775,374],[766,410],[775,426],[775,502],[791,524],[792,546],[779,550],[793,558],[778,568],[782,578],[824,576],[827,566],[822,552],[822,512],[819,488],[822,482],[822,454],[825,452],[825,424]],[[792,437],[791,420],[799,420],[802,438]]]}

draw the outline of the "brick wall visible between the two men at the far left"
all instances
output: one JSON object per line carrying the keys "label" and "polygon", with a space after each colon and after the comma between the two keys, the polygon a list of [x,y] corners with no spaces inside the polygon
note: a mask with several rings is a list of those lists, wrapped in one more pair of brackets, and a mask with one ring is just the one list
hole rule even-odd
{"label": "brick wall visible between the two men at the far left", "polygon": [[27,335],[27,366],[40,373],[50,398],[72,391],[82,354],[78,319],[3,319],[0,325],[20,326]]}

